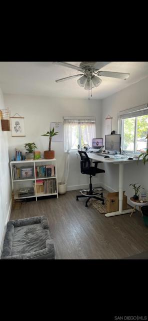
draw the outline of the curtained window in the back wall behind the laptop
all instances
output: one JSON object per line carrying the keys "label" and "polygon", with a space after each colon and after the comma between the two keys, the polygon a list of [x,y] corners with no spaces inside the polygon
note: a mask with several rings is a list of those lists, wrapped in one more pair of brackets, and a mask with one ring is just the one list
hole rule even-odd
{"label": "curtained window in the back wall behind the laptop", "polygon": [[64,117],[64,149],[74,150],[77,145],[92,144],[95,137],[94,117]]}

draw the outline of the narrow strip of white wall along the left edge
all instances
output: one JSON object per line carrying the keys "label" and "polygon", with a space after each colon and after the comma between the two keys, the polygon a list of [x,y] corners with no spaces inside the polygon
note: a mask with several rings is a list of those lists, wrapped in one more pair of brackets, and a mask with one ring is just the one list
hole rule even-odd
{"label": "narrow strip of white wall along the left edge", "polygon": [[[0,109],[5,109],[0,89]],[[11,209],[11,186],[9,177],[7,132],[1,130],[0,121],[0,251],[4,236],[5,224]]]}

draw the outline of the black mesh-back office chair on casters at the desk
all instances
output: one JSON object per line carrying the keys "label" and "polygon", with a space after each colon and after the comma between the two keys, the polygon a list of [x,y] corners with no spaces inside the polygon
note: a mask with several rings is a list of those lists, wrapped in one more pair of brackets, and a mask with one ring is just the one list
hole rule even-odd
{"label": "black mesh-back office chair on casters at the desk", "polygon": [[[94,166],[91,166],[90,159],[87,153],[85,151],[80,151],[80,150],[78,150],[78,153],[80,155],[81,174],[89,175],[90,183],[89,183],[89,190],[81,190],[80,191],[81,195],[76,195],[76,201],[78,201],[80,197],[87,197],[88,199],[85,202],[86,207],[88,206],[87,203],[91,198],[102,201],[102,204],[104,204],[103,193],[100,193],[100,192],[98,193],[98,189],[92,189],[92,184],[91,184],[92,176],[95,176],[95,174],[99,174],[99,173],[105,173],[104,170],[100,170],[97,168],[97,164],[102,162],[97,162],[97,161],[92,162],[94,163]],[[101,198],[97,197],[99,195],[101,196]]]}

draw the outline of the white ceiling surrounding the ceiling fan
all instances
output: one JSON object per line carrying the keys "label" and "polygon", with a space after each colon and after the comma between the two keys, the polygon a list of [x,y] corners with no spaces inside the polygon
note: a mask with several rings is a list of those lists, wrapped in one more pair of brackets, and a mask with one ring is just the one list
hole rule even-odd
{"label": "white ceiling surrounding the ceiling fan", "polygon": [[[79,66],[80,62],[68,63]],[[103,99],[148,77],[148,62],[111,62],[100,70],[130,76],[127,80],[99,76],[102,82],[92,88],[91,99]],[[79,71],[52,62],[0,62],[0,88],[6,94],[88,99],[88,91],[77,84],[79,77],[55,83],[56,79],[76,74]]]}

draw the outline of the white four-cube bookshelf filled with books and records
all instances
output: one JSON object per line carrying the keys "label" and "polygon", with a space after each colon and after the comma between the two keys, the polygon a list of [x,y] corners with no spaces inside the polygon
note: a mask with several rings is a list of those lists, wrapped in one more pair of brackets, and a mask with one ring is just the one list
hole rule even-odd
{"label": "white four-cube bookshelf filled with books and records", "polygon": [[[44,165],[54,165],[55,167],[55,176],[51,177],[35,177],[35,167],[36,166],[44,166]],[[26,179],[14,179],[13,175],[13,166],[16,167],[16,169],[21,168],[30,168],[32,167],[33,172],[33,178],[26,178]],[[37,201],[38,197],[42,196],[53,196],[56,195],[58,198],[58,192],[57,192],[57,167],[56,167],[56,158],[53,159],[34,159],[33,161],[12,161],[10,162],[10,173],[11,173],[11,184],[12,184],[12,190],[14,192],[14,199],[27,199],[27,198],[35,198]],[[55,179],[56,184],[56,193],[50,193],[50,194],[44,194],[44,192],[36,193],[36,180],[51,180]],[[28,186],[27,186],[28,185]],[[30,188],[35,185],[35,191],[33,196],[25,196],[20,197],[19,196],[19,189],[20,188]]]}

